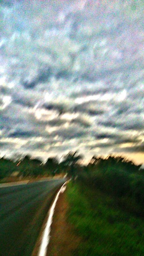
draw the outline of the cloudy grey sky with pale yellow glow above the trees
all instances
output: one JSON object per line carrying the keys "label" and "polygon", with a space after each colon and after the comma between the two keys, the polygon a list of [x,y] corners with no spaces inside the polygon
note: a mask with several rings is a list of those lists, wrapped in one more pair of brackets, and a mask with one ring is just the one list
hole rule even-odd
{"label": "cloudy grey sky with pale yellow glow above the trees", "polygon": [[143,1],[0,1],[0,155],[144,163]]}

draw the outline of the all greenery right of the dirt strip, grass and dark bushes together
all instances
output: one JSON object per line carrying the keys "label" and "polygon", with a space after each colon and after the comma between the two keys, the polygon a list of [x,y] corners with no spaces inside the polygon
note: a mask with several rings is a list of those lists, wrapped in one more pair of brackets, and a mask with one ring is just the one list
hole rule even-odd
{"label": "all greenery right of the dirt strip, grass and dark bushes together", "polygon": [[144,176],[122,157],[93,157],[67,189],[68,222],[82,242],[71,255],[144,255]]}

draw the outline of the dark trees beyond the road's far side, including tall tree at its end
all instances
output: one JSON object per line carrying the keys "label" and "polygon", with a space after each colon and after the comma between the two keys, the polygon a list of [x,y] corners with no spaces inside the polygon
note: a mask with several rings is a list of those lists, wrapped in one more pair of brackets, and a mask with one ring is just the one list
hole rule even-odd
{"label": "dark trees beyond the road's far side, including tall tree at its end", "polygon": [[7,180],[8,177],[23,178],[39,178],[47,176],[55,176],[56,174],[65,175],[74,178],[76,173],[83,170],[80,164],[77,164],[82,156],[77,152],[70,152],[63,156],[61,162],[57,158],[48,158],[46,163],[40,159],[33,159],[30,156],[18,156],[17,160],[12,161],[2,157],[0,159],[0,182]]}

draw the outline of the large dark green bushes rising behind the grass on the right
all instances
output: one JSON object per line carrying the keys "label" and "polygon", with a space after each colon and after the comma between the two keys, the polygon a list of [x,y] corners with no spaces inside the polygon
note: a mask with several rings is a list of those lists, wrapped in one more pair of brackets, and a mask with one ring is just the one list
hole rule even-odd
{"label": "large dark green bushes rising behind the grass on the right", "polygon": [[[127,167],[128,171],[127,171]],[[130,168],[131,167],[131,168]],[[112,157],[89,164],[79,176],[86,186],[100,189],[116,198],[116,203],[130,212],[144,213],[144,176],[136,172],[137,166]],[[130,172],[131,169],[131,172]]]}

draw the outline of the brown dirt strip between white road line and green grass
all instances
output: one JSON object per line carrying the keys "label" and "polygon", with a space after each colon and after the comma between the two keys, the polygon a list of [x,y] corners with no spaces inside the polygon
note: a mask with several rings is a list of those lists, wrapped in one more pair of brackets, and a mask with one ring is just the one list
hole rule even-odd
{"label": "brown dirt strip between white road line and green grass", "polygon": [[81,241],[74,234],[72,231],[73,227],[67,221],[67,211],[68,201],[65,191],[63,194],[60,194],[56,204],[47,256],[72,256]]}

